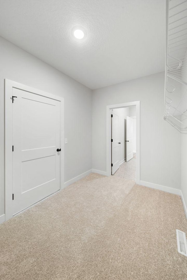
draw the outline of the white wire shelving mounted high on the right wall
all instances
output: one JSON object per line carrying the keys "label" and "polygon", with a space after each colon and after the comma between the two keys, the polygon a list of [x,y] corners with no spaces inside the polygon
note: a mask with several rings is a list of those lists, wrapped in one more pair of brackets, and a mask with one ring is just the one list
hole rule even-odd
{"label": "white wire shelving mounted high on the right wall", "polygon": [[164,119],[187,133],[187,0],[166,0]]}

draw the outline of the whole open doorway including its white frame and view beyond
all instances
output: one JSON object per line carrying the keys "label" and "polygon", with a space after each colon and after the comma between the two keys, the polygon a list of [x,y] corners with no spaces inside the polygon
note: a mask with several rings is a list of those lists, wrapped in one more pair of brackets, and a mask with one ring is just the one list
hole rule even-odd
{"label": "whole open doorway including its white frame and view beyond", "polygon": [[107,106],[107,175],[140,181],[140,101]]}

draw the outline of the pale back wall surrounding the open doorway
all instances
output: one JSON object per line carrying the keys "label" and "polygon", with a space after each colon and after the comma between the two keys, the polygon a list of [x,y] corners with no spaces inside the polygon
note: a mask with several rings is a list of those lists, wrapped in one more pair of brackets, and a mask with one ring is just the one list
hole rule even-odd
{"label": "pale back wall surrounding the open doorway", "polygon": [[181,188],[181,135],[163,120],[165,73],[93,91],[93,168],[106,171],[106,106],[140,100],[140,179]]}

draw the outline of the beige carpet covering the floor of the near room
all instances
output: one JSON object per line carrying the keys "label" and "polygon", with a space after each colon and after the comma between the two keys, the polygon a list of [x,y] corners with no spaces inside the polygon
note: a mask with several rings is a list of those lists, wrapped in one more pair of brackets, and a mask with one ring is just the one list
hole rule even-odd
{"label": "beige carpet covering the floor of the near room", "polygon": [[0,225],[2,280],[185,280],[181,198],[90,174]]}

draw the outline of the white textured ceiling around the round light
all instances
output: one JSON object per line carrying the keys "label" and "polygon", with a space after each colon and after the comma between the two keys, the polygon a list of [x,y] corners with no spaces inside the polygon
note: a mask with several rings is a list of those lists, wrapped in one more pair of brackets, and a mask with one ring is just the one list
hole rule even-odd
{"label": "white textured ceiling around the round light", "polygon": [[0,0],[0,36],[96,89],[164,71],[165,1]]}

